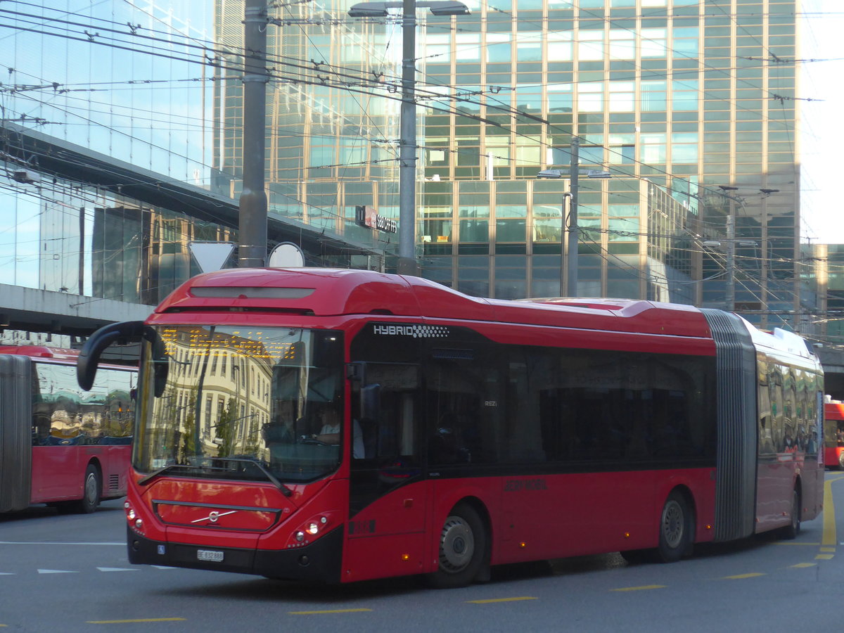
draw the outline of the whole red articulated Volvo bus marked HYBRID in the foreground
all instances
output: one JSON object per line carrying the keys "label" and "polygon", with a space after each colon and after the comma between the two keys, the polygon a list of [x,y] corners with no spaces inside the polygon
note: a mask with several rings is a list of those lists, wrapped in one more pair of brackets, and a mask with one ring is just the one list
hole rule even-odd
{"label": "whole red articulated Volvo bus marked HYBRID in the foreground", "polygon": [[818,515],[798,336],[641,300],[490,300],[360,270],[182,284],[139,338],[133,563],[353,582],[695,543]]}

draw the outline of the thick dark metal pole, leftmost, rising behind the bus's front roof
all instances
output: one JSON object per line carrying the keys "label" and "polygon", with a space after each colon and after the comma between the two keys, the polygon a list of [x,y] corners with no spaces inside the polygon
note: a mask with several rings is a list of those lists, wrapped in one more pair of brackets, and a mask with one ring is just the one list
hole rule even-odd
{"label": "thick dark metal pole, leftmost, rising behind the bus's front roof", "polygon": [[243,42],[243,188],[240,198],[239,268],[259,268],[267,258],[267,193],[264,191],[267,111],[267,1],[246,0]]}

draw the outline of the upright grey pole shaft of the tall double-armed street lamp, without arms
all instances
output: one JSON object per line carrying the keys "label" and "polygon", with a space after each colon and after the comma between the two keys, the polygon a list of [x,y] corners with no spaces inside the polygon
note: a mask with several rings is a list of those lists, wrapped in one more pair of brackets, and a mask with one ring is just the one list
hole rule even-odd
{"label": "upright grey pole shaft of the tall double-armed street lamp, without arms", "polygon": [[416,274],[416,2],[403,0],[402,107],[398,141],[398,273]]}

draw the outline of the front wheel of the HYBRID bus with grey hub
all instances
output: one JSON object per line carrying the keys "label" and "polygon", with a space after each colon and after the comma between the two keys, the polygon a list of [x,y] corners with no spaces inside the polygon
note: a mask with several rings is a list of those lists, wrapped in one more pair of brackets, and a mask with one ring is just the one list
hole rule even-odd
{"label": "front wheel of the HYBRID bus with grey hub", "polygon": [[472,506],[454,506],[440,532],[440,564],[427,576],[437,589],[466,587],[483,568],[486,558],[486,528]]}

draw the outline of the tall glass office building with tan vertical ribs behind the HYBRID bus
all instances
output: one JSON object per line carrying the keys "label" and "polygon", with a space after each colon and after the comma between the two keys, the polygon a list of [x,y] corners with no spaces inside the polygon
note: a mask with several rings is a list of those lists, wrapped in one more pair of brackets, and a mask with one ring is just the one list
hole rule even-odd
{"label": "tall glass office building with tan vertical ribs behind the HYBRID bus", "polygon": [[[349,18],[351,4],[271,8],[268,46],[268,179],[294,201],[279,210],[340,230],[358,204],[398,217],[401,19]],[[426,277],[559,295],[569,182],[537,175],[565,174],[576,137],[581,167],[612,174],[580,179],[576,294],[724,306],[732,285],[762,324],[798,305],[793,1],[466,4],[417,12]],[[218,4],[232,47],[242,6]],[[216,104],[218,123],[236,122],[230,82]],[[236,172],[238,142],[218,126],[221,170]]]}

